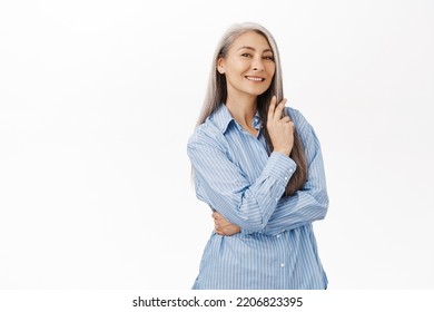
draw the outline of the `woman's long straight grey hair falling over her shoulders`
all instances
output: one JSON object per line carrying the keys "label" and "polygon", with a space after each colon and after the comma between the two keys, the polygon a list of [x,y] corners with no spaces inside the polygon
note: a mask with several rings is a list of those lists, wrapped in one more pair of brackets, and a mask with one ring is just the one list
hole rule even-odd
{"label": "woman's long straight grey hair falling over her shoulders", "polygon": [[[284,88],[282,79],[282,66],[280,57],[277,49],[276,41],[274,40],[272,33],[260,25],[253,22],[245,22],[239,25],[234,25],[230,27],[221,37],[219,43],[217,45],[216,51],[213,58],[211,70],[209,75],[208,88],[204,100],[204,106],[197,121],[197,125],[205,123],[208,116],[216,111],[220,105],[226,103],[227,99],[227,85],[226,76],[218,72],[217,61],[219,58],[225,58],[228,50],[235,42],[235,40],[249,31],[257,32],[264,36],[268,45],[273,50],[274,61],[276,65],[275,75],[273,77],[272,85],[262,95],[257,97],[257,109],[259,116],[264,124],[264,137],[267,143],[268,154],[273,152],[273,143],[267,130],[267,113],[272,97],[275,95],[277,97],[277,103],[280,103],[284,98]],[[297,164],[297,168],[286,185],[285,195],[293,195],[295,192],[300,189],[307,179],[307,163],[304,146],[297,131],[294,133],[294,146],[289,155],[290,158]]]}

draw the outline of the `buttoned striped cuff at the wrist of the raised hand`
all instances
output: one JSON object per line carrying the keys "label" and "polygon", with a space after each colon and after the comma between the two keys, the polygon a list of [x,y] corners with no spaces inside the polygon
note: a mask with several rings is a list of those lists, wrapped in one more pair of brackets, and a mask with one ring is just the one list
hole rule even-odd
{"label": "buttoned striped cuff at the wrist of the raised hand", "polygon": [[273,152],[272,155],[269,155],[263,174],[266,177],[274,177],[280,184],[286,186],[296,168],[297,164],[287,155],[279,152]]}

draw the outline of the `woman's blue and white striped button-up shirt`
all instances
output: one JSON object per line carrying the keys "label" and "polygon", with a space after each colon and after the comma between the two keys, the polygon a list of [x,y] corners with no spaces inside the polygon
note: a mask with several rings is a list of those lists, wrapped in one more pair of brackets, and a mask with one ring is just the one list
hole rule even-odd
{"label": "woman's blue and white striped button-up shirt", "polygon": [[221,105],[188,140],[197,197],[241,227],[231,236],[211,233],[193,289],[325,289],[312,223],[328,207],[319,142],[294,108],[285,108],[305,146],[308,179],[283,196],[296,169],[280,153],[268,155],[256,114],[257,137]]}

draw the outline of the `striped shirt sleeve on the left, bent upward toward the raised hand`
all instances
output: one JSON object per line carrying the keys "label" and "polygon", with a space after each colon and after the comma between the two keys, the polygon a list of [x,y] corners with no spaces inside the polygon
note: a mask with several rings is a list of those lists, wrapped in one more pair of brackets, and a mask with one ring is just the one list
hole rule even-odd
{"label": "striped shirt sleeve on the left, bent upward toward the raised hand", "polygon": [[273,153],[250,184],[215,137],[197,131],[187,145],[198,198],[246,231],[262,231],[274,213],[296,164]]}

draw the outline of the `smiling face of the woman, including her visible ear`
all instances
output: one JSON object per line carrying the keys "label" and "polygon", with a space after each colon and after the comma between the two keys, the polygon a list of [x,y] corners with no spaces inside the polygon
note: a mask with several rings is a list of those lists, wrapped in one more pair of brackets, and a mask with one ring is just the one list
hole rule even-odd
{"label": "smiling face of the woman, including her visible ear", "polygon": [[264,94],[276,70],[267,39],[248,31],[239,36],[225,58],[217,61],[217,70],[226,75],[228,96]]}

